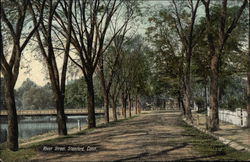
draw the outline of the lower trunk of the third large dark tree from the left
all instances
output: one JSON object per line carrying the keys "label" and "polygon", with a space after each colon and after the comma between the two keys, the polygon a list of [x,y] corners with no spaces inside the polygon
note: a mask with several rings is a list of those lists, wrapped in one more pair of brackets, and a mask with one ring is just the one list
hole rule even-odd
{"label": "lower trunk of the third large dark tree from the left", "polygon": [[87,83],[87,100],[88,100],[88,128],[96,127],[95,120],[95,93],[93,84],[93,75],[85,77]]}

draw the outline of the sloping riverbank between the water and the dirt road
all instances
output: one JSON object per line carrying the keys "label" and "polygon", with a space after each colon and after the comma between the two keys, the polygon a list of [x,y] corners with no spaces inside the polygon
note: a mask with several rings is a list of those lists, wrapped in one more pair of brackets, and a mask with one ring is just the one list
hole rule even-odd
{"label": "sloping riverbank between the water and the dirt road", "polygon": [[[111,114],[111,112],[110,112]],[[104,118],[99,118],[96,120],[97,128],[106,127],[110,125],[114,125],[119,122],[123,122],[124,120],[128,120],[131,118],[124,119],[120,112],[117,113],[118,121],[113,122],[113,117],[110,117],[110,123],[106,124]],[[127,117],[129,114],[127,114]],[[138,115],[132,112],[132,118],[137,117]],[[95,128],[93,128],[95,129]],[[41,135],[33,136],[29,139],[20,140],[19,146],[20,149],[17,152],[12,152],[7,149],[7,143],[0,144],[0,162],[3,160],[6,161],[27,161],[31,157],[37,154],[36,147],[42,144],[53,144],[58,141],[61,141],[66,138],[71,138],[73,136],[77,136],[79,134],[84,134],[88,131],[92,131],[93,129],[88,129],[87,125],[81,126],[81,130],[78,128],[73,128],[68,130],[68,136],[58,136],[57,130],[50,131],[48,133],[44,133]]]}

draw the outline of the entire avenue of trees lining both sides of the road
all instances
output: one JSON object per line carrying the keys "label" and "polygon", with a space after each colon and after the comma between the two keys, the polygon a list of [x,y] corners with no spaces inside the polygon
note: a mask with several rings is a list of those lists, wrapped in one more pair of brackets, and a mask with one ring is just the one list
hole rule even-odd
{"label": "entire avenue of trees lining both sides of the road", "polygon": [[[67,135],[64,108],[70,100],[67,95],[74,88],[67,90],[70,84],[66,85],[66,79],[76,68],[77,75],[81,74],[85,80],[89,128],[96,127],[95,78],[99,79],[106,122],[110,105],[113,119],[117,120],[119,99],[126,118],[127,106],[129,116],[133,104],[135,113],[140,111],[140,95],[163,93],[176,97],[184,115],[192,121],[193,84],[202,83],[205,91],[210,86],[208,129],[215,131],[219,127],[222,81],[246,70],[250,111],[250,54],[249,48],[245,49],[249,26],[247,0],[172,0],[166,3],[167,7],[144,8],[149,16],[148,47],[141,36],[134,34],[142,9],[140,3],[136,0],[0,2],[1,74],[10,150],[18,150],[14,87],[21,58],[30,49],[37,52],[37,59],[46,66],[59,135]],[[245,63],[241,64],[242,60]]]}

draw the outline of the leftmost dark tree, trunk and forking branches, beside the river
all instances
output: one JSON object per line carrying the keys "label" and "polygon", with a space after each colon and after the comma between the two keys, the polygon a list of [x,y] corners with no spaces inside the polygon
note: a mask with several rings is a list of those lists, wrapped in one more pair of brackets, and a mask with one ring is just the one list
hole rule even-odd
{"label": "leftmost dark tree, trunk and forking branches, beside the river", "polygon": [[[15,3],[10,3],[14,5]],[[40,6],[40,16],[39,16],[39,24],[42,20],[43,9],[44,9],[45,0],[42,2]],[[4,74],[5,79],[5,100],[6,100],[6,107],[8,110],[8,137],[7,137],[7,145],[8,148],[12,151],[18,150],[18,121],[17,121],[17,112],[16,112],[16,105],[15,105],[15,96],[14,96],[14,87],[19,75],[19,68],[20,68],[20,61],[22,57],[22,52],[24,51],[25,47],[27,46],[28,42],[30,41],[31,37],[33,36],[34,32],[38,29],[38,25],[34,25],[34,28],[29,30],[30,32],[23,37],[23,29],[25,24],[25,18],[27,17],[26,11],[28,9],[33,9],[32,4],[28,3],[28,1],[23,1],[22,6],[17,6],[16,13],[17,15],[13,19],[6,16],[4,11],[5,7],[2,6],[2,1],[0,2],[0,62],[1,62],[1,73]],[[8,14],[7,14],[8,15]],[[13,21],[12,21],[13,20]],[[13,48],[12,53],[8,55],[8,57],[4,55],[3,50],[3,39],[2,39],[2,24],[1,22],[5,22],[6,27],[11,31],[10,38],[12,39]],[[22,41],[20,41],[22,39]],[[22,43],[21,43],[22,42]],[[10,58],[7,61],[7,58]]]}

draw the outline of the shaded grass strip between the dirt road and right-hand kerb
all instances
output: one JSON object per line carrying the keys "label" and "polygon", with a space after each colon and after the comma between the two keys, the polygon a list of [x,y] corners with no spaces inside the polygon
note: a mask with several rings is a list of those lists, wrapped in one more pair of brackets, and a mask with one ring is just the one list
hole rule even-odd
{"label": "shaded grass strip between the dirt road and right-hand kerb", "polygon": [[183,136],[189,136],[188,143],[191,143],[194,150],[201,153],[202,157],[209,160],[235,160],[246,161],[250,159],[250,153],[247,151],[237,151],[214,137],[200,132],[183,122],[185,131]]}

